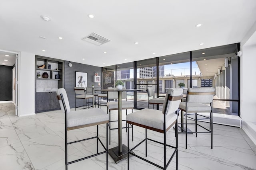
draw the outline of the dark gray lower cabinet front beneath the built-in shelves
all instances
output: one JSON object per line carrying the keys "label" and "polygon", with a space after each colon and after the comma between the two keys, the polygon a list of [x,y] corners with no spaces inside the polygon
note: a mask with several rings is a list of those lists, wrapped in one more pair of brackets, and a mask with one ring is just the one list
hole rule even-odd
{"label": "dark gray lower cabinet front beneath the built-in shelves", "polygon": [[36,92],[36,113],[60,109],[56,96],[56,92]]}

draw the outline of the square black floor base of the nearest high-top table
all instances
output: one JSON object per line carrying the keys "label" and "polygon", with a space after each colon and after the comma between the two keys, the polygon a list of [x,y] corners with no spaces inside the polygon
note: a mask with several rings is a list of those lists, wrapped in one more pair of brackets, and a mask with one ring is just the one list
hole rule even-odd
{"label": "square black floor base of the nearest high-top table", "polygon": [[116,162],[116,164],[118,162],[120,162],[121,160],[127,158],[127,152],[128,152],[128,148],[126,147],[126,145],[122,145],[122,152],[119,152],[118,146],[108,149],[108,154],[110,154],[110,156],[114,159],[114,161]]}

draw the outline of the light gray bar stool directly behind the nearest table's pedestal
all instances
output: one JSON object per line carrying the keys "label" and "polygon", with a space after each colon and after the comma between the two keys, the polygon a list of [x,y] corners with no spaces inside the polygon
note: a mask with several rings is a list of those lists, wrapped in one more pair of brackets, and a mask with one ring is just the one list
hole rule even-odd
{"label": "light gray bar stool directly behind the nearest table's pedestal", "polygon": [[[108,89],[116,90],[116,88],[112,88],[112,87],[109,87]],[[123,88],[123,89],[125,89],[125,88]],[[122,92],[122,99],[125,99],[125,100],[122,100],[122,110],[126,109],[126,116],[127,116],[127,109],[132,109],[132,112],[133,112],[134,104],[132,101],[127,101],[126,95],[127,95],[126,92]],[[118,99],[118,92],[108,92],[108,99],[109,100]],[[109,124],[109,145],[110,145],[111,130],[118,129],[118,128],[111,128],[111,122],[117,122],[118,120],[111,121],[110,113],[112,110],[118,110],[118,102],[108,102],[107,106],[108,106],[108,111],[109,111],[109,123],[108,124]],[[122,120],[122,121],[126,121],[126,119]],[[126,127],[122,127],[122,129],[124,129],[124,128],[126,128],[126,131],[127,131],[127,123],[126,123]],[[132,141],[133,141],[133,129],[132,129]]]}

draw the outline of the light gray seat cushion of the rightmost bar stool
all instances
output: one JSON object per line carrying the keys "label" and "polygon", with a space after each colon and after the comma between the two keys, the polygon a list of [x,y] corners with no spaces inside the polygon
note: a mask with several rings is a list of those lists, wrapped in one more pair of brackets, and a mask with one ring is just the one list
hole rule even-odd
{"label": "light gray seat cushion of the rightmost bar stool", "polygon": [[[211,106],[200,103],[187,103],[187,107],[188,113],[211,112],[212,110]],[[186,110],[186,102],[181,102],[179,108]]]}

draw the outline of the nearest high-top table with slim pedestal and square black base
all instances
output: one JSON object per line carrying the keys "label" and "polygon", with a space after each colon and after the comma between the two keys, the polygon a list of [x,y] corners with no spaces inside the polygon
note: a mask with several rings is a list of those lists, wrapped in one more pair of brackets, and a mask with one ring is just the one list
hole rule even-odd
{"label": "nearest high-top table with slim pedestal and square black base", "polygon": [[116,163],[118,163],[120,160],[127,158],[127,152],[128,149],[126,145],[122,144],[122,92],[135,92],[135,91],[141,91],[139,89],[122,89],[122,90],[116,90],[116,89],[101,89],[96,90],[100,92],[118,92],[118,146],[111,148],[108,150],[108,153],[110,156],[114,159]]}

